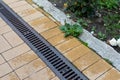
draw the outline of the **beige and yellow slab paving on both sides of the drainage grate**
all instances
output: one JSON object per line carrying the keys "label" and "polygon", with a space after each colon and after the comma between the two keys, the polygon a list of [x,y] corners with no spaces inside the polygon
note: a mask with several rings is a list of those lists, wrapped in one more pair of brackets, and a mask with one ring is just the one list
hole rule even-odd
{"label": "beige and yellow slab paving on both sides of the drainage grate", "polygon": [[[30,0],[29,0],[30,1]],[[49,14],[25,0],[4,0],[90,80],[119,80],[120,72],[73,37],[64,38]],[[0,80],[59,80],[0,18]]]}

